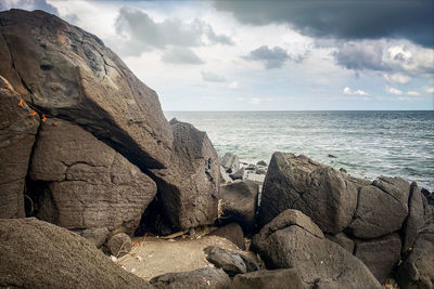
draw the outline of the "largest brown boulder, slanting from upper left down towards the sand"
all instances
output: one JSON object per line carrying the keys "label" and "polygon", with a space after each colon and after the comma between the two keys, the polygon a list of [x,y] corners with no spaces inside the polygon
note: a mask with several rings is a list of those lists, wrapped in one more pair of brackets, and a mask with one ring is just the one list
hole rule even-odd
{"label": "largest brown boulder, slanting from upper left down towards the sand", "polygon": [[206,134],[170,126],[156,93],[100,39],[42,11],[0,12],[0,74],[27,102],[91,132],[150,175],[174,229],[214,222],[218,158]]}

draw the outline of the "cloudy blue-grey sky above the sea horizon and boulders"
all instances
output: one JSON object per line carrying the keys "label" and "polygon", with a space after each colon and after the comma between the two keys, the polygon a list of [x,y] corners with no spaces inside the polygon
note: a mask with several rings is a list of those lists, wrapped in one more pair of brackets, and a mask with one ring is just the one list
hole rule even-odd
{"label": "cloudy blue-grey sky above the sea horizon and boulders", "polygon": [[1,0],[101,38],[164,110],[434,109],[434,0]]}

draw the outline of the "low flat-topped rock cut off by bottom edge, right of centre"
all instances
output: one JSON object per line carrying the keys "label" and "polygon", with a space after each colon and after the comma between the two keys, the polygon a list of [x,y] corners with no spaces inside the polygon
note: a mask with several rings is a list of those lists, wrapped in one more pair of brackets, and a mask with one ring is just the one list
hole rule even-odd
{"label": "low flat-topped rock cut off by bottom edge, right of centre", "polygon": [[233,278],[232,289],[304,289],[306,288],[293,268],[263,270],[239,274]]}

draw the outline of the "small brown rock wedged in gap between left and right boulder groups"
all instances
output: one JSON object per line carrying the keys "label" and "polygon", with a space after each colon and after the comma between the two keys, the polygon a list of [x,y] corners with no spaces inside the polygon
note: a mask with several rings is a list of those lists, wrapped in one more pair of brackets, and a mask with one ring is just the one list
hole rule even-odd
{"label": "small brown rock wedged in gap between left and right boulder groups", "polygon": [[220,198],[226,220],[241,224],[245,232],[252,232],[255,226],[258,189],[258,185],[253,181],[221,186]]}

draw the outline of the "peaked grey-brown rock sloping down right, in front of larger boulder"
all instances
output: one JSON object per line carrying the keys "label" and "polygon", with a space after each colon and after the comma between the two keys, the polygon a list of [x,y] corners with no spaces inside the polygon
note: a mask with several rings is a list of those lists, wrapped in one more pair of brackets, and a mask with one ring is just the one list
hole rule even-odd
{"label": "peaked grey-brown rock sloping down right, in front of larger boulder", "polygon": [[254,236],[252,248],[267,268],[294,268],[307,284],[332,279],[343,288],[382,288],[359,259],[328,240],[301,211],[279,214]]}

